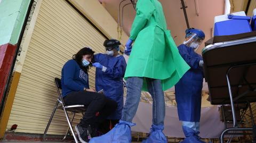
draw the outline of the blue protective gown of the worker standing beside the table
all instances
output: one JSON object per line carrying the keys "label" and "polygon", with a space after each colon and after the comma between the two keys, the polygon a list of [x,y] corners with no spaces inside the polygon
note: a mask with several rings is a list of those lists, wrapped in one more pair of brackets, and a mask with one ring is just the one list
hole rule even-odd
{"label": "blue protective gown of the worker standing beside the table", "polygon": [[202,56],[194,49],[181,44],[179,53],[187,62],[189,69],[175,85],[175,98],[180,121],[199,122],[201,114],[203,69],[199,66]]}

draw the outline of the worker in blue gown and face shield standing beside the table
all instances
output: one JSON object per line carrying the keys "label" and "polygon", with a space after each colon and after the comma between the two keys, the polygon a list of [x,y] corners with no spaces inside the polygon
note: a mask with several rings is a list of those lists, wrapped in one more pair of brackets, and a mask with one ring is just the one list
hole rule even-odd
{"label": "worker in blue gown and face shield standing beside the table", "polygon": [[191,68],[175,85],[179,120],[182,121],[182,129],[186,136],[182,143],[203,142],[198,136],[203,88],[203,58],[195,51],[204,38],[202,30],[187,29],[186,40],[178,47],[180,55]]}

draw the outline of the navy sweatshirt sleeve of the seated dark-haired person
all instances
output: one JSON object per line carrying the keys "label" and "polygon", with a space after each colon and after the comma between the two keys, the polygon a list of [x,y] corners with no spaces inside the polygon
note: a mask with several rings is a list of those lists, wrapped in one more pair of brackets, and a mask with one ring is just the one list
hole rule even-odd
{"label": "navy sweatshirt sleeve of the seated dark-haired person", "polygon": [[75,61],[70,60],[63,66],[64,85],[74,91],[82,91],[84,90],[84,87],[73,80],[76,71],[76,63],[74,62]]}

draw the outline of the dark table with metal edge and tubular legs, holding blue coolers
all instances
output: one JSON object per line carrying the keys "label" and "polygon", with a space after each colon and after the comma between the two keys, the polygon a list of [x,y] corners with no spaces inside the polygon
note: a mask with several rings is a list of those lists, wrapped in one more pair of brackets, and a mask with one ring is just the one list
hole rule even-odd
{"label": "dark table with metal edge and tubular legs, holding blue coolers", "polygon": [[233,114],[233,128],[222,132],[220,142],[225,134],[241,134],[230,131],[252,131],[238,127],[234,104],[249,103],[254,127],[250,103],[256,102],[256,36],[207,45],[202,56],[211,104],[230,104]]}

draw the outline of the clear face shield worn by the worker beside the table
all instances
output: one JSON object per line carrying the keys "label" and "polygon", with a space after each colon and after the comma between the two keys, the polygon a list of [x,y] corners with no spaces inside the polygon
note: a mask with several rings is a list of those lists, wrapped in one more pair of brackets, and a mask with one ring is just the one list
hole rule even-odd
{"label": "clear face shield worn by the worker beside the table", "polygon": [[184,45],[191,47],[194,51],[201,45],[204,39],[199,37],[196,33],[188,33],[186,35],[186,40],[183,42]]}

